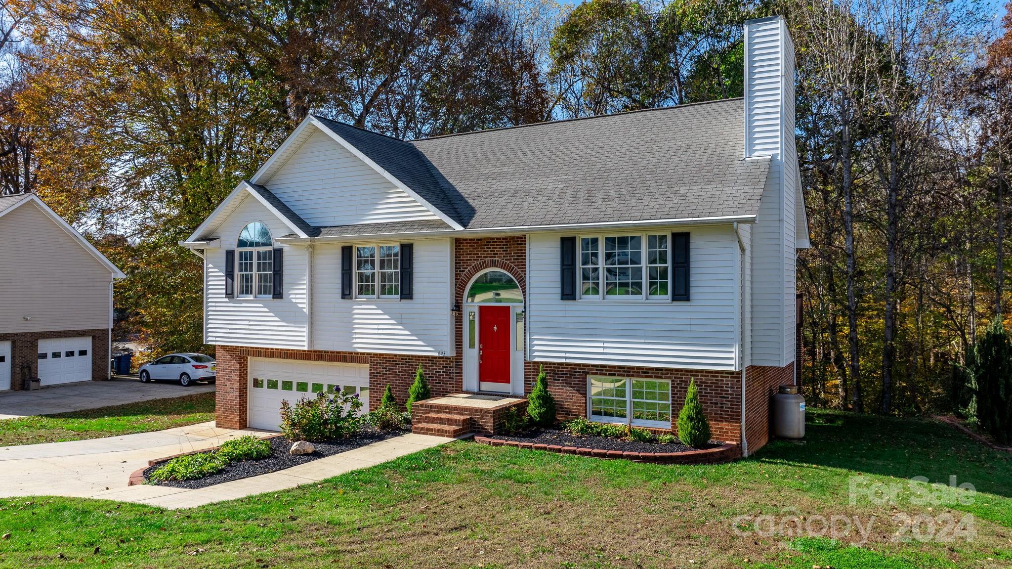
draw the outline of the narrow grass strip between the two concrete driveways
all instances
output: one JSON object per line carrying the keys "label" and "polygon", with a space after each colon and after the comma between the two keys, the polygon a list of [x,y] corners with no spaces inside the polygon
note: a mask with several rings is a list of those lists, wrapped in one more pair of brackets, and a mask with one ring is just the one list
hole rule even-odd
{"label": "narrow grass strip between the two concrete driveways", "polygon": [[199,393],[56,415],[0,420],[0,446],[100,438],[215,418],[215,394]]}

